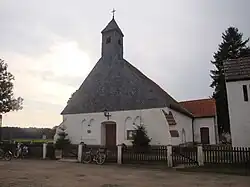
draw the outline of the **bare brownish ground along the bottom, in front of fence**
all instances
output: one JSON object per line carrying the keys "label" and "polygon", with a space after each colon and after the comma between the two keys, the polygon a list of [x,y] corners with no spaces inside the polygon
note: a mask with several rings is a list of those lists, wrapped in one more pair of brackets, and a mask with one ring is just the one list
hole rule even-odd
{"label": "bare brownish ground along the bottom, in front of fence", "polygon": [[0,161],[0,187],[249,187],[250,177],[98,166],[59,161]]}

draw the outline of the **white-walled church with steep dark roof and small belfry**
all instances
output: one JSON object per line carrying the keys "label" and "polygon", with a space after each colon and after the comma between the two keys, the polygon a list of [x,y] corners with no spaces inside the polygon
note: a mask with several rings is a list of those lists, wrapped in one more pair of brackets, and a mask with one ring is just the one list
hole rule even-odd
{"label": "white-walled church with steep dark roof and small belfry", "polygon": [[[130,145],[135,126],[144,125],[151,145],[216,144],[215,103],[204,105],[213,108],[209,115],[197,116],[187,102],[177,102],[123,58],[123,37],[113,18],[102,31],[101,58],[61,113],[59,127],[66,129],[71,142]],[[201,106],[199,102],[193,107]]]}

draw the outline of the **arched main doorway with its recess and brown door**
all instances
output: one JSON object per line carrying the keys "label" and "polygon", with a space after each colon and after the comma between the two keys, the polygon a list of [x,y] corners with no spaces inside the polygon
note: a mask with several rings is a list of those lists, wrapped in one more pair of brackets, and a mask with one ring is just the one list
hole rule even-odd
{"label": "arched main doorway with its recess and brown door", "polygon": [[102,144],[105,147],[116,146],[116,122],[104,121],[102,122]]}

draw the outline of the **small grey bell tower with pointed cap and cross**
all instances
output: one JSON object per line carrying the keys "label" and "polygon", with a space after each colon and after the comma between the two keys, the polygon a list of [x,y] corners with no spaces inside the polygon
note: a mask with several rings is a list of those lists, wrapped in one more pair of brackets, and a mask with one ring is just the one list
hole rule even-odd
{"label": "small grey bell tower with pointed cap and cross", "polygon": [[123,33],[117,25],[114,12],[108,25],[102,30],[102,58],[112,60],[113,58],[123,59]]}

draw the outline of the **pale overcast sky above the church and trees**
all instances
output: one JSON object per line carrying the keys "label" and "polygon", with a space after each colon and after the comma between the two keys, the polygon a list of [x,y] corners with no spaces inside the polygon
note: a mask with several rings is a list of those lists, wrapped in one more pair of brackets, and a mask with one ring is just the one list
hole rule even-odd
{"label": "pale overcast sky above the church and trees", "polygon": [[0,58],[24,108],[4,126],[53,127],[69,96],[100,58],[111,10],[124,57],[178,101],[212,94],[209,70],[222,32],[250,36],[249,0],[0,0]]}

